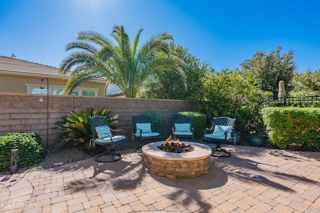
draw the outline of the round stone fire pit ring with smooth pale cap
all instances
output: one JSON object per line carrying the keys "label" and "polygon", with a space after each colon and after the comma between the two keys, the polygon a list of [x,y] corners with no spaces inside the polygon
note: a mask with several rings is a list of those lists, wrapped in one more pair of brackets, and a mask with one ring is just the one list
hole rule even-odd
{"label": "round stone fire pit ring with smooth pale cap", "polygon": [[194,150],[185,153],[169,153],[157,148],[165,141],[149,143],[142,147],[144,170],[150,174],[172,179],[196,178],[209,172],[211,165],[211,148],[193,142]]}

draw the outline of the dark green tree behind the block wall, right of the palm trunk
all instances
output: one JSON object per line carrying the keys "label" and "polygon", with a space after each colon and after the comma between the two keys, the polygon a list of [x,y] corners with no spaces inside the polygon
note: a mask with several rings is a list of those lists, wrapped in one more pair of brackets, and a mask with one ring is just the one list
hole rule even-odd
{"label": "dark green tree behind the block wall, right of the palm trunk", "polygon": [[160,78],[151,75],[143,84],[144,90],[139,92],[138,97],[192,100],[193,97],[201,94],[205,73],[211,69],[209,64],[201,62],[181,45],[170,42],[170,49],[173,55],[183,59],[186,63],[187,88],[185,89],[183,82],[176,80],[179,78],[177,73],[162,73]]}

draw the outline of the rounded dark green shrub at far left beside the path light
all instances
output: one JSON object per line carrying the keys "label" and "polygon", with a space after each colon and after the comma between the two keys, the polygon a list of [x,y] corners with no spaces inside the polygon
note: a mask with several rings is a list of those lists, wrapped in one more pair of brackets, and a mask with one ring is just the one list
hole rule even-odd
{"label": "rounded dark green shrub at far left beside the path light", "polygon": [[45,153],[41,137],[36,133],[8,133],[0,136],[0,172],[6,172],[11,165],[11,150],[18,149],[18,167],[40,163]]}

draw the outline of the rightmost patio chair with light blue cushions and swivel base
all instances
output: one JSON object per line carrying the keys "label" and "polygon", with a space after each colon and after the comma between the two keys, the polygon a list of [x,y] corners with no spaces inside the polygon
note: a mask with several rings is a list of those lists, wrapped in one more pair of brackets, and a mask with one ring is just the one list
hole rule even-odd
{"label": "rightmost patio chair with light blue cushions and swivel base", "polygon": [[[226,144],[229,141],[234,140],[233,127],[235,118],[219,117],[213,118],[212,126],[210,129],[204,129],[202,140],[213,142],[216,144],[216,148],[212,149],[211,156],[217,157],[230,157],[231,153],[220,147],[221,144]],[[207,134],[207,132],[210,132]],[[214,152],[222,151],[224,155],[215,155]]]}

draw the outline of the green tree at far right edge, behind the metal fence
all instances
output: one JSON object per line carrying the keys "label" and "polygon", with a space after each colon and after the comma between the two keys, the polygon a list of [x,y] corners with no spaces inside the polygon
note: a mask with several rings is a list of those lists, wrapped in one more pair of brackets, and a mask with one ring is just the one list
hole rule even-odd
{"label": "green tree at far right edge, behind the metal fence", "polygon": [[290,96],[318,94],[320,85],[315,83],[320,81],[320,69],[312,71],[307,69],[304,73],[293,73],[293,78],[290,82],[293,90],[289,93]]}

